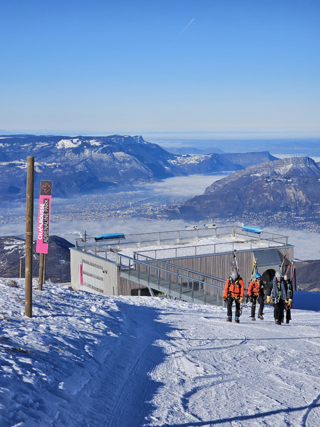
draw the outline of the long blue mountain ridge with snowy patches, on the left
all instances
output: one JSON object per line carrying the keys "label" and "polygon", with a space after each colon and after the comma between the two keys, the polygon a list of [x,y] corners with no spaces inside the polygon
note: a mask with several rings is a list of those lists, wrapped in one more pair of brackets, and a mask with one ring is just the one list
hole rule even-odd
{"label": "long blue mountain ridge with snowy patches, on the left", "polygon": [[35,160],[35,188],[41,179],[50,179],[55,197],[101,193],[117,184],[243,168],[238,157],[233,164],[217,153],[174,155],[139,135],[0,135],[0,201],[25,198],[26,160],[30,155]]}

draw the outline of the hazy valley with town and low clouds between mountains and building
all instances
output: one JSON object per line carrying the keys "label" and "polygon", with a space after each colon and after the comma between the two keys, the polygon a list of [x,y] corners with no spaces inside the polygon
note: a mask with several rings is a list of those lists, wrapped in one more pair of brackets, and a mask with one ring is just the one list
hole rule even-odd
{"label": "hazy valley with town and low clouds between mountains and building", "polygon": [[[185,226],[203,227],[204,221],[183,218],[168,219],[163,211],[170,206],[183,204],[186,199],[203,193],[205,188],[225,175],[189,175],[174,177],[153,184],[122,186],[121,190],[108,190],[103,195],[83,195],[71,199],[52,198],[50,235],[57,235],[71,243],[84,236],[105,232],[136,234],[183,230]],[[34,201],[34,229],[36,228],[37,201]],[[241,223],[258,226],[266,231],[289,237],[295,245],[295,257],[301,260],[320,259],[319,228],[314,222],[296,219],[292,215],[267,217],[256,214],[239,218],[209,217],[207,223],[219,226]],[[25,233],[25,204],[17,202],[0,208],[0,235],[20,236]]]}

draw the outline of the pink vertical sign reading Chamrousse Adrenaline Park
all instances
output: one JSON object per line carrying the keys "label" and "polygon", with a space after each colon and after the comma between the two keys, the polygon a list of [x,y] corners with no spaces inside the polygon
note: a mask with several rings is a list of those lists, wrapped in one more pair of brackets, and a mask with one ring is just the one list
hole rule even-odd
{"label": "pink vertical sign reading Chamrousse Adrenaline Park", "polygon": [[36,231],[36,252],[38,254],[48,253],[51,197],[52,181],[41,181],[38,228]]}

